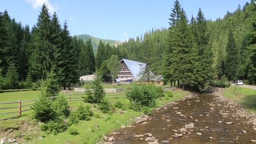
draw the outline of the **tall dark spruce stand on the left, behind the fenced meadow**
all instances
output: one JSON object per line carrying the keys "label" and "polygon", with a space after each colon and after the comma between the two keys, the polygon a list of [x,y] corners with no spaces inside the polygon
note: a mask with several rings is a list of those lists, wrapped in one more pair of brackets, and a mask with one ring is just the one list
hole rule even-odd
{"label": "tall dark spruce stand on the left, behind the fenced meadow", "polygon": [[[31,88],[53,70],[60,85],[77,82],[80,75],[95,71],[91,41],[69,35],[43,4],[37,23],[29,29],[0,12],[0,89]],[[20,83],[21,82],[21,83]]]}

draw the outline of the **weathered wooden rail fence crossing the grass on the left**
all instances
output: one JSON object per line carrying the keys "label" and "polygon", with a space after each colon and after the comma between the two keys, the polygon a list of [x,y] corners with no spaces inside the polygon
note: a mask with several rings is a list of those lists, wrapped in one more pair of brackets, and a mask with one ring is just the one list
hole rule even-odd
{"label": "weathered wooden rail fence crossing the grass on the left", "polygon": [[[69,101],[69,104],[71,104],[71,101],[83,101],[82,96],[85,96],[85,94],[68,94],[68,95],[64,95],[67,96],[67,99]],[[73,97],[74,96],[74,97]],[[52,101],[53,98],[57,98],[60,96],[51,96],[48,97],[49,99],[51,99]],[[118,99],[118,98],[122,98],[124,99],[124,92],[119,92],[119,93],[106,93],[105,99]],[[0,107],[0,110],[2,109],[18,109],[18,111],[15,112],[5,112],[5,113],[0,113],[0,115],[8,115],[8,114],[13,114],[13,113],[17,113],[18,115],[12,116],[12,117],[6,117],[6,118],[1,118],[0,120],[7,120],[7,119],[11,119],[11,118],[17,118],[17,117],[21,117],[22,116],[22,112],[26,112],[29,110],[32,110],[29,106],[32,105],[32,103],[37,100],[37,99],[31,99],[31,100],[26,100],[26,101],[11,101],[11,102],[0,102],[0,105],[2,104],[17,104],[17,107]],[[29,104],[27,104],[27,102],[29,102]],[[23,105],[24,104],[24,105]],[[27,109],[24,109],[25,107],[27,107]]]}

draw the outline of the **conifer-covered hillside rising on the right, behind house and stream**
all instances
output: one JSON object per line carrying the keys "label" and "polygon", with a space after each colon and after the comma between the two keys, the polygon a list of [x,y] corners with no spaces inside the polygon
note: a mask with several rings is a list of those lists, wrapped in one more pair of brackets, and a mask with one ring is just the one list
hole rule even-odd
{"label": "conifer-covered hillside rising on the right, behind house and stream", "polygon": [[[168,29],[152,29],[143,37],[129,39],[113,48],[112,54],[149,64],[155,74],[164,75],[166,82],[181,80],[198,88],[213,78],[227,77],[256,84],[254,0],[215,21],[205,19],[203,8],[187,18],[176,0],[169,24]],[[105,55],[98,50],[97,58]]]}

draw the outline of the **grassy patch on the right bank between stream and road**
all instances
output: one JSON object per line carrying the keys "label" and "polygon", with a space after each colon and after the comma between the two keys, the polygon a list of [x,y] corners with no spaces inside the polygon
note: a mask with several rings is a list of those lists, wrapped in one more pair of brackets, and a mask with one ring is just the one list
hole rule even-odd
{"label": "grassy patch on the right bank between stream and road", "polygon": [[256,112],[256,90],[231,86],[225,88],[222,95],[240,104],[249,112]]}

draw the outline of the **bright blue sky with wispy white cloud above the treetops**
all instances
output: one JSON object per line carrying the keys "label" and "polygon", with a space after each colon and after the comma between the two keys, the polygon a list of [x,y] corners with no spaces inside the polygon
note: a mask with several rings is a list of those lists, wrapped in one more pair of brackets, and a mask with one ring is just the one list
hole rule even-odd
{"label": "bright blue sky with wispy white cloud above the treetops", "polygon": [[[180,0],[191,15],[199,7],[207,19],[223,17],[237,5],[249,0]],[[141,35],[152,27],[168,27],[174,0],[1,0],[0,11],[30,27],[37,22],[43,3],[51,13],[57,12],[61,24],[67,20],[71,35],[88,34],[94,37],[122,40]]]}

